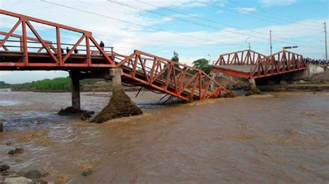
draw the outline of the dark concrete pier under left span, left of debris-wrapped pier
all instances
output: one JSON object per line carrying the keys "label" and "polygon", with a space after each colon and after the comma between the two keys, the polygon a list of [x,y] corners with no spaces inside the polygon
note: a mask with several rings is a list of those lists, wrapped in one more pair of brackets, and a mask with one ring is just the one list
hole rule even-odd
{"label": "dark concrete pier under left span, left of debris-wrapped pier", "polygon": [[69,75],[71,77],[72,107],[80,110],[80,73],[78,71],[71,71]]}

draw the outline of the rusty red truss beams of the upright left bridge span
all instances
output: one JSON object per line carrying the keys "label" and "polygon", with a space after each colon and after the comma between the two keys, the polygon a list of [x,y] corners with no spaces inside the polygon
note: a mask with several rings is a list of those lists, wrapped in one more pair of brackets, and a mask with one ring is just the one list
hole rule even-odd
{"label": "rusty red truss beams of the upright left bridge span", "polygon": [[[82,42],[82,39],[85,39],[86,40],[86,46],[85,46],[86,55],[85,55],[85,61],[83,63],[81,63],[82,65],[87,64],[89,66],[93,66],[93,64],[96,64],[96,63],[92,63],[92,59],[90,57],[90,55],[91,55],[90,50],[92,50],[92,49],[90,49],[90,42],[92,42],[94,44],[94,46],[96,46],[96,49],[99,50],[99,53],[102,53],[102,55],[104,57],[103,64],[108,64],[109,67],[116,67],[113,59],[108,57],[108,54],[105,53],[105,51],[101,48],[101,46],[99,46],[99,44],[96,42],[94,37],[92,37],[92,33],[87,30],[81,30],[78,28],[73,28],[70,26],[62,25],[62,24],[56,24],[51,21],[45,21],[42,19],[34,18],[34,17],[28,17],[26,15],[20,15],[15,12],[9,12],[7,10],[2,10],[2,9],[0,9],[0,14],[18,18],[17,23],[15,24],[15,26],[13,26],[10,29],[9,33],[1,32],[2,35],[5,35],[5,37],[0,42],[0,48],[2,47],[4,50],[10,51],[10,48],[5,45],[6,42],[8,41],[8,39],[10,37],[18,37],[21,40],[21,43],[22,43],[21,52],[23,53],[23,55],[22,55],[22,59],[19,59],[19,61],[17,61],[17,62],[24,61],[26,66],[29,66],[30,63],[29,63],[29,52],[28,52],[28,40],[33,40],[35,42],[39,42],[40,44],[42,44],[42,47],[40,47],[40,49],[37,50],[38,53],[41,53],[41,51],[43,49],[45,49],[47,51],[47,54],[49,55],[50,59],[47,62],[44,62],[44,64],[56,62],[58,64],[58,66],[65,66],[65,64],[67,64],[68,60],[72,61],[71,53],[74,51],[74,49],[77,46],[79,46],[79,44]],[[40,24],[43,24],[46,26],[52,26],[52,27],[56,28],[56,48],[53,46],[53,43],[47,42],[47,40],[42,38],[40,33],[38,33],[37,29],[35,29],[35,27],[33,26],[33,22],[37,22],[37,23],[40,23]],[[20,25],[22,25],[22,35],[14,35],[13,33]],[[27,28],[30,28],[32,30],[33,34],[35,35],[35,37],[37,37],[37,38],[27,37],[27,35],[26,35]],[[82,33],[82,35],[83,35],[81,37],[82,39],[79,39],[78,42],[74,43],[74,47],[71,48],[71,50],[69,50],[69,53],[67,53],[67,55],[63,55],[63,53],[60,49],[61,48],[60,29],[71,30],[76,33]],[[64,58],[63,58],[63,56],[64,56]],[[8,65],[10,65],[10,64],[8,64]]]}

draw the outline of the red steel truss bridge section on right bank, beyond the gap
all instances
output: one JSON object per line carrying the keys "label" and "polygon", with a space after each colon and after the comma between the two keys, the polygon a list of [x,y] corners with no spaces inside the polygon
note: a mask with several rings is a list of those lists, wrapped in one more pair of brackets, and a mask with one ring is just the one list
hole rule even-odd
{"label": "red steel truss bridge section on right bank, beyond the gap", "polygon": [[237,77],[255,79],[306,69],[303,55],[282,50],[272,55],[263,55],[253,50],[242,50],[219,56],[212,72],[226,73]]}

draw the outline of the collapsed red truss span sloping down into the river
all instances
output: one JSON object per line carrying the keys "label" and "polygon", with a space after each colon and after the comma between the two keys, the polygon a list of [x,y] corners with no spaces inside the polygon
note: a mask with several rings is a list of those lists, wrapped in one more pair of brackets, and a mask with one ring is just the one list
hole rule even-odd
{"label": "collapsed red truss span sloping down into the river", "polygon": [[128,56],[116,55],[116,59],[116,65],[124,68],[125,76],[178,98],[203,100],[219,98],[225,93],[233,96],[209,75],[185,64],[140,50]]}

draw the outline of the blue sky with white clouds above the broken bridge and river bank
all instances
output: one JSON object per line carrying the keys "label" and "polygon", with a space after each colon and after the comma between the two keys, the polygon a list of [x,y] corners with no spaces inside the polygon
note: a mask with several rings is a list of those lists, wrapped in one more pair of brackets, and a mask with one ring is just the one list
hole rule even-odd
{"label": "blue sky with white clouds above the broken bridge and river bank", "polygon": [[[273,53],[296,45],[294,51],[304,57],[325,57],[323,22],[328,22],[328,0],[0,0],[0,8],[90,30],[98,42],[114,46],[117,53],[138,49],[170,59],[176,50],[180,62],[189,65],[195,59],[213,61],[222,53],[246,49],[247,43],[268,55],[269,30]],[[15,19],[0,15],[1,31],[8,32],[13,24]],[[56,42],[53,30],[35,26],[43,39]],[[77,39],[78,35],[63,33],[61,42]],[[64,71],[2,71],[0,81],[67,75]]]}

